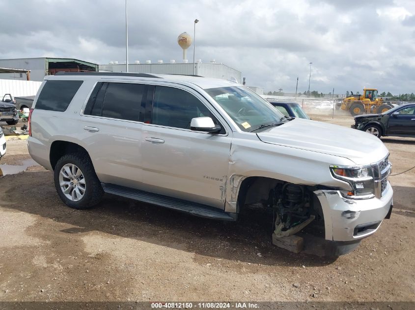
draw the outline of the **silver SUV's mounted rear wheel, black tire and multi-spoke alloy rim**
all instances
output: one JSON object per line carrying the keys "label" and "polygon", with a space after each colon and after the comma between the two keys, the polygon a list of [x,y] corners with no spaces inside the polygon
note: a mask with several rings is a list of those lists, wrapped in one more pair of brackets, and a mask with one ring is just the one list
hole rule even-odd
{"label": "silver SUV's mounted rear wheel, black tire and multi-spoke alloy rim", "polygon": [[55,188],[62,201],[75,209],[90,209],[104,194],[89,156],[71,153],[62,156],[54,170]]}

